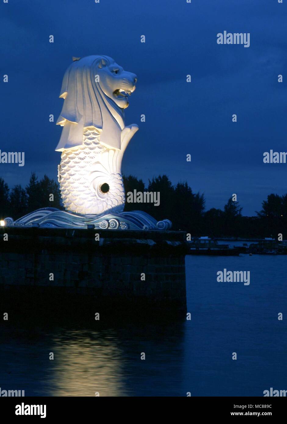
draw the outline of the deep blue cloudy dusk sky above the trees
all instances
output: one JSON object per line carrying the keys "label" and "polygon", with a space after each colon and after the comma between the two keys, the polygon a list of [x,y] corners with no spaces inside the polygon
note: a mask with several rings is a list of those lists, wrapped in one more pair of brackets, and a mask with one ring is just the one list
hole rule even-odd
{"label": "deep blue cloudy dusk sky above the trees", "polygon": [[[187,180],[206,209],[237,193],[254,215],[287,192],[287,164],[263,163],[265,151],[287,151],[286,17],[287,0],[0,0],[0,150],[25,152],[24,167],[0,164],[0,176],[9,187],[31,171],[56,179],[64,72],[72,56],[104,54],[138,78],[123,174]],[[225,30],[250,33],[250,47],[217,45]]]}

